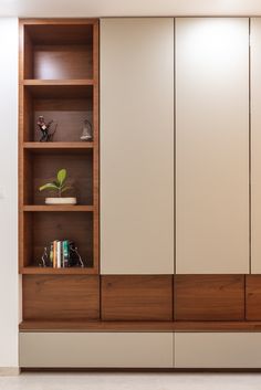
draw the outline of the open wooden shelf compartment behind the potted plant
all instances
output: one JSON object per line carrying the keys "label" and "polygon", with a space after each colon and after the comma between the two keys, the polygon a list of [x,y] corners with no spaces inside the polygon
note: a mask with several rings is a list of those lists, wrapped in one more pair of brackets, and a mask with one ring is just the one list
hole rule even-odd
{"label": "open wooden shelf compartment behind the potted plant", "polygon": [[52,182],[59,169],[67,171],[67,183],[73,187],[64,196],[76,197],[79,205],[93,205],[93,150],[45,150],[24,151],[23,159],[23,204],[44,205],[46,197],[56,196],[39,191]]}

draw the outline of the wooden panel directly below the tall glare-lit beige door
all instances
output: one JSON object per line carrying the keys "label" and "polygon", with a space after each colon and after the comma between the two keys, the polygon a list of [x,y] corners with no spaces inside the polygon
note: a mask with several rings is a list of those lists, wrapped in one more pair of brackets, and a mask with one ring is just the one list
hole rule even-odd
{"label": "wooden panel directly below the tall glare-lit beige door", "polygon": [[176,275],[176,320],[244,319],[243,275]]}

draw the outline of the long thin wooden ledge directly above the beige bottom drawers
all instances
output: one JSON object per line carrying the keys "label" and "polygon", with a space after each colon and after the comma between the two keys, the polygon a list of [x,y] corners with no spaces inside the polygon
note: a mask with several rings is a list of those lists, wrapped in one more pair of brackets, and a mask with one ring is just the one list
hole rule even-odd
{"label": "long thin wooden ledge directly above the beige bottom drawers", "polygon": [[33,322],[20,331],[260,331],[261,322]]}

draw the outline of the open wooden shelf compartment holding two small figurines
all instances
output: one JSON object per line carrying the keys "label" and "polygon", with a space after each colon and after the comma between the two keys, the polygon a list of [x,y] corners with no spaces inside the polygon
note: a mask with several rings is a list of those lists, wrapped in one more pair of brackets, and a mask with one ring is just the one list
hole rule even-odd
{"label": "open wooden shelf compartment holding two small figurines", "polygon": [[82,143],[84,120],[93,127],[92,85],[27,85],[24,95],[24,143],[41,139],[39,116],[48,124],[53,120],[50,133],[54,133],[53,145],[58,143]]}

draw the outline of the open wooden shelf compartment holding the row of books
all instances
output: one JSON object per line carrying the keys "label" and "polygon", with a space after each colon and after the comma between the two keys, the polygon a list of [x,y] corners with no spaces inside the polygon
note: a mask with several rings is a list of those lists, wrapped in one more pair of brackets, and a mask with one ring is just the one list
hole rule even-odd
{"label": "open wooden shelf compartment holding the row of books", "polygon": [[[27,212],[23,215],[24,244],[21,273],[81,273],[94,266],[92,212]],[[44,247],[54,240],[73,241],[85,267],[42,267]],[[28,272],[27,272],[28,270]],[[31,271],[30,271],[31,270]],[[72,270],[72,271],[70,271]],[[75,272],[73,271],[75,270]]]}

